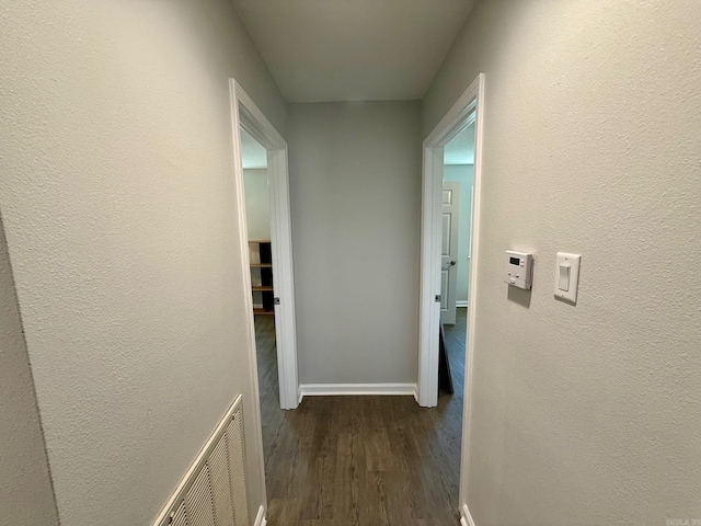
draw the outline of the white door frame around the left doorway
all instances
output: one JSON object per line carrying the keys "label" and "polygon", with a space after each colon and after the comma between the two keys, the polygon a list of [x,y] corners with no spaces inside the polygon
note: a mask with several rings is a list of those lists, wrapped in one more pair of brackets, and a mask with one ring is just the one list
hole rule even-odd
{"label": "white door frame around the left doorway", "polygon": [[[289,202],[289,172],[287,163],[287,142],[273,124],[258,110],[241,85],[229,79],[231,98],[231,127],[233,142],[233,179],[237,192],[237,216],[239,241],[243,264],[243,284],[251,290],[251,271],[249,258],[249,235],[245,217],[245,193],[243,184],[243,164],[241,162],[240,127],[251,134],[267,150],[267,175],[271,199],[271,242],[273,268],[275,274],[275,334],[277,347],[277,375],[279,380],[279,400],[281,409],[296,409],[299,404],[297,391],[297,324],[295,318],[295,284],[292,272],[292,231]],[[249,348],[254,364],[253,380],[258,395],[257,358],[255,346],[255,324],[253,297],[246,294],[246,323],[249,325]],[[260,400],[258,400],[260,415]],[[258,416],[260,419],[260,416]],[[255,425],[260,427],[260,422]]]}

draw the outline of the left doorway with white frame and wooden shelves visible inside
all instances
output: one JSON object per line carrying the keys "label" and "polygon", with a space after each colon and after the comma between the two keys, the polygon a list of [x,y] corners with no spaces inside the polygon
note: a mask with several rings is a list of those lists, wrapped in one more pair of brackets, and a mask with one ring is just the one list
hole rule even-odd
{"label": "left doorway with white frame and wooden shelves visible inside", "polygon": [[[299,382],[287,142],[233,79],[230,92],[252,381],[260,392],[276,391],[266,398],[276,403],[275,409],[296,409]],[[262,354],[265,375],[261,381],[256,324],[267,330],[273,354]],[[256,401],[260,425],[261,398]]]}

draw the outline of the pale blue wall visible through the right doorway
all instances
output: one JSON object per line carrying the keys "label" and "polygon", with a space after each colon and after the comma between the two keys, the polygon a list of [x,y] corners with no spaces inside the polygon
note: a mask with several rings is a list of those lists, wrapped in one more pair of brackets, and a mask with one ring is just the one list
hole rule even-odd
{"label": "pale blue wall visible through the right doorway", "polygon": [[460,183],[460,218],[458,220],[458,290],[456,299],[467,301],[470,291],[470,229],[472,228],[472,182],[474,165],[446,164],[443,180]]}

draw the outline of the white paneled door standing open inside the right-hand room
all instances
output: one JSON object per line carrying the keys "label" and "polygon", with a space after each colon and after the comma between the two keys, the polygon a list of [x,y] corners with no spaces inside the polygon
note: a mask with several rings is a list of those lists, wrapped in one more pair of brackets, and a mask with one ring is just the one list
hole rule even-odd
{"label": "white paneled door standing open inside the right-hand room", "polygon": [[440,252],[440,321],[455,324],[458,290],[460,183],[443,183],[443,247]]}

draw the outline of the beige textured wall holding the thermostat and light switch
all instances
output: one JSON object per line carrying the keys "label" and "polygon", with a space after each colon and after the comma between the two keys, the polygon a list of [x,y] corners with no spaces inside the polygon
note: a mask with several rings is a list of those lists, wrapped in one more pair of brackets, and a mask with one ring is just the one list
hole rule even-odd
{"label": "beige textured wall holding the thermostat and light switch", "polygon": [[[698,0],[482,1],[427,93],[424,135],[486,73],[478,526],[701,518],[699,27]],[[530,295],[509,248],[536,253]],[[559,250],[583,254],[576,307]]]}

